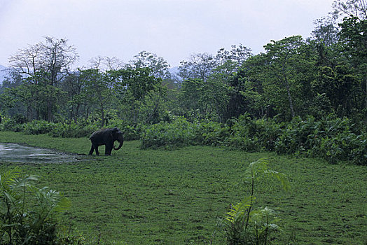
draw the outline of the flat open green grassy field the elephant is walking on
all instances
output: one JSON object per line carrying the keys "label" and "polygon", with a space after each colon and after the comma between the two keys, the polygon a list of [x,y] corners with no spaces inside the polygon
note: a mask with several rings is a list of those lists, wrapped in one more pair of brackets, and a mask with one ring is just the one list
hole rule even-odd
{"label": "flat open green grassy field the elephant is walking on", "polygon": [[[0,142],[86,154],[90,141],[0,132]],[[104,147],[101,147],[104,153]],[[111,157],[81,155],[70,163],[0,162],[39,176],[40,186],[60,190],[72,207],[64,225],[106,244],[225,244],[218,218],[248,194],[250,162],[268,158],[270,169],[289,176],[291,193],[275,181],[257,188],[258,206],[277,211],[274,244],[367,244],[367,167],[328,165],[317,159],[226,148],[141,150],[127,141]],[[213,236],[214,235],[214,236]],[[213,238],[214,237],[214,238]]]}

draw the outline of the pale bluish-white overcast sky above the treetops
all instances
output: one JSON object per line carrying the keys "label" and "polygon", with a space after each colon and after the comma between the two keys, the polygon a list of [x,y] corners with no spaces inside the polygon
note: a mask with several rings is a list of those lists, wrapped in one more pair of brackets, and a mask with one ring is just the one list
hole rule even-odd
{"label": "pale bluish-white overcast sky above the treetops", "polygon": [[254,54],[287,36],[310,36],[333,0],[0,0],[0,64],[22,48],[65,38],[76,66],[98,56],[127,63],[141,51],[172,67],[242,44]]}

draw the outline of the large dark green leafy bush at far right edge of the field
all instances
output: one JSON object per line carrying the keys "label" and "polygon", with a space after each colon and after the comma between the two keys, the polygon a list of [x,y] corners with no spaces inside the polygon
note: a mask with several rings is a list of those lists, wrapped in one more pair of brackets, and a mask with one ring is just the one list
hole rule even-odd
{"label": "large dark green leafy bush at far right edge of the field", "polygon": [[355,134],[348,118],[326,116],[319,121],[294,118],[282,130],[276,144],[277,153],[296,153],[324,158],[329,163],[348,161],[367,165],[367,134]]}

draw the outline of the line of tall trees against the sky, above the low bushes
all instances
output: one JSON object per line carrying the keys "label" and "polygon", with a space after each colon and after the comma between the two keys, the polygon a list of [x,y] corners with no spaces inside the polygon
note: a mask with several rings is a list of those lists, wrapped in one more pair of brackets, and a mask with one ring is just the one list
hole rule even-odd
{"label": "line of tall trees against the sky, above the low bushes", "polygon": [[1,114],[20,121],[98,120],[101,127],[111,118],[154,124],[172,116],[226,123],[244,113],[282,121],[333,113],[367,123],[366,4],[334,1],[333,9],[315,21],[308,38],[271,41],[258,55],[242,44],[194,54],[177,73],[146,51],[126,64],[97,57],[88,68],[72,69],[75,48],[46,37],[9,58]]}

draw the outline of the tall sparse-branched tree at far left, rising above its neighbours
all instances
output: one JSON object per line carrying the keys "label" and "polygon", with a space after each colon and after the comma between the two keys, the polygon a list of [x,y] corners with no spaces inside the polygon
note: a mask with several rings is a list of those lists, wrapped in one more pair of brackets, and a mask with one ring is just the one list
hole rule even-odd
{"label": "tall sparse-branched tree at far left, rising above its neighbours", "polygon": [[9,58],[13,71],[22,76],[23,82],[13,90],[28,113],[36,113],[36,119],[53,120],[64,93],[57,85],[77,56],[66,39],[46,36],[44,43],[29,45]]}

